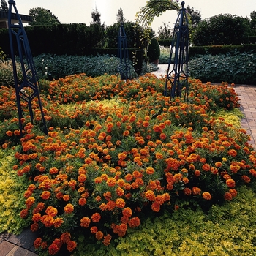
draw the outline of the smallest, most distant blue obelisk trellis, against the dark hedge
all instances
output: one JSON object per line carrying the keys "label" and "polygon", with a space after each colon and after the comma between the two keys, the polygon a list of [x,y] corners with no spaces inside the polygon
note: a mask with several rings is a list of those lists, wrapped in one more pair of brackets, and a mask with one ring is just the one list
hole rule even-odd
{"label": "smallest, most distant blue obelisk trellis, against the dark hedge", "polygon": [[124,24],[121,22],[118,33],[118,76],[122,79],[131,78],[131,70],[129,67],[129,55],[127,47],[127,35],[124,31]]}

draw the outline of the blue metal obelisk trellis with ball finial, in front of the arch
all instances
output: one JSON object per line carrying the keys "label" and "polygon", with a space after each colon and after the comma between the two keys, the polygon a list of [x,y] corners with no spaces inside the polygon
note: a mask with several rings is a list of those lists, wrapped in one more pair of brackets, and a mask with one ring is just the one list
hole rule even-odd
{"label": "blue metal obelisk trellis with ball finial, in front of the arch", "polygon": [[[182,8],[178,12],[178,18],[174,26],[173,42],[170,49],[170,59],[167,68],[164,95],[170,98],[181,97],[181,91],[185,88],[184,98],[187,99],[188,92],[188,60],[189,60],[189,24],[187,20],[185,2],[181,2]],[[171,58],[174,52],[173,69],[170,69]],[[170,82],[170,92],[167,85]]]}

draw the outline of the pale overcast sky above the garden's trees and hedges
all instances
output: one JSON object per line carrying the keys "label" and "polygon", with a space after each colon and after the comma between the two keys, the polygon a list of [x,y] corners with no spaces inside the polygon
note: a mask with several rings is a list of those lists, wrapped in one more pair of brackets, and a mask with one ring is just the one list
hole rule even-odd
{"label": "pale overcast sky above the garden's trees and hedges", "polygon": [[[189,5],[194,10],[200,11],[202,19],[211,18],[219,14],[231,14],[249,18],[250,13],[256,11],[255,0],[184,1],[184,7]],[[136,13],[140,10],[140,7],[146,6],[146,0],[15,0],[15,3],[18,12],[23,15],[29,15],[31,8],[42,7],[50,10],[53,15],[59,18],[61,23],[86,23],[87,26],[92,21],[91,12],[96,8],[101,14],[102,23],[110,26],[116,23],[116,15],[120,8],[124,12],[125,20],[135,22]],[[151,27],[157,33],[158,28],[163,23],[170,23],[170,26],[173,26],[176,18],[177,12],[168,10],[161,16],[154,18]]]}

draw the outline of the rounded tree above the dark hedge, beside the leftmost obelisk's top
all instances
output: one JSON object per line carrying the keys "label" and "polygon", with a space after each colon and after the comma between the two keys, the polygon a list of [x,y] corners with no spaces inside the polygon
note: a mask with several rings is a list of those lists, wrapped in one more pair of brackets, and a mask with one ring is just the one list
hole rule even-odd
{"label": "rounded tree above the dark hedge, beside the leftmost obelisk's top", "polygon": [[60,24],[59,19],[50,10],[42,7],[30,9],[29,15],[33,19],[33,21],[29,22],[31,26]]}

